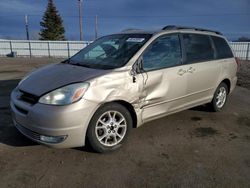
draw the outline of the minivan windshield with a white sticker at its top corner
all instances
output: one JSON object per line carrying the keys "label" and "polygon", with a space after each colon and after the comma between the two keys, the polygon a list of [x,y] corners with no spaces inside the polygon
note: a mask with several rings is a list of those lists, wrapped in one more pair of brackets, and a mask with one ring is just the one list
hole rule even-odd
{"label": "minivan windshield with a white sticker at its top corner", "polygon": [[150,34],[116,34],[102,37],[69,59],[69,64],[95,69],[124,66],[148,41]]}

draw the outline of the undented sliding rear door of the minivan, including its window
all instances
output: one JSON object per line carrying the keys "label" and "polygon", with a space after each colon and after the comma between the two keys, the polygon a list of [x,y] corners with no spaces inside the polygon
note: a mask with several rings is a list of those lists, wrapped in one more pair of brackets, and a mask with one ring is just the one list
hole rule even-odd
{"label": "undented sliding rear door of the minivan, including its window", "polygon": [[185,49],[187,99],[191,106],[208,102],[217,87],[221,66],[209,35],[182,34]]}

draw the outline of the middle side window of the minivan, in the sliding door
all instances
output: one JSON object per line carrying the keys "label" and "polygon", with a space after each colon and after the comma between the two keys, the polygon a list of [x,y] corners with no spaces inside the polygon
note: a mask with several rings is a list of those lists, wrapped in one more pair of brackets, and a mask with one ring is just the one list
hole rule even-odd
{"label": "middle side window of the minivan, in the sliding door", "polygon": [[207,35],[183,34],[186,51],[186,63],[196,63],[213,60],[214,50]]}

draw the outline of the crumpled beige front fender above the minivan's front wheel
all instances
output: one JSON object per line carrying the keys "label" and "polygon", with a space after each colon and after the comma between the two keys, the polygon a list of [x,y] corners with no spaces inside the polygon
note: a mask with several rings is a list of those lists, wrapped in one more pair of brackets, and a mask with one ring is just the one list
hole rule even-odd
{"label": "crumpled beige front fender above the minivan's front wheel", "polygon": [[88,90],[84,99],[92,101],[99,106],[101,104],[122,100],[130,103],[137,115],[137,126],[142,124],[140,94],[142,85],[130,75],[130,71],[116,70],[106,75],[90,80],[91,89]]}

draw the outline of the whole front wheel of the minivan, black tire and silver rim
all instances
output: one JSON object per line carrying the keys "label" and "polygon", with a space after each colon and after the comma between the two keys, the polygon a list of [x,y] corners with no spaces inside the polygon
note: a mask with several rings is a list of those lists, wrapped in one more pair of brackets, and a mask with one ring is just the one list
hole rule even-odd
{"label": "whole front wheel of the minivan, black tire and silver rim", "polygon": [[121,147],[132,128],[129,111],[118,103],[101,106],[93,115],[87,130],[91,147],[99,153]]}

